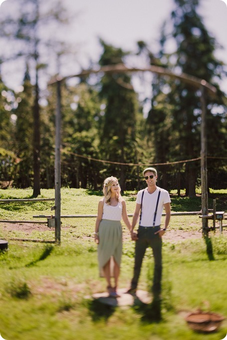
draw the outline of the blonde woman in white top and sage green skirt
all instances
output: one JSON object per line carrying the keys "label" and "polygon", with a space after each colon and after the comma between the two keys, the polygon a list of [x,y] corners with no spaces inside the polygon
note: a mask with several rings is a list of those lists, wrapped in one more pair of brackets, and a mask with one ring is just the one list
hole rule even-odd
{"label": "blonde woman in white top and sage green skirt", "polygon": [[[107,291],[111,297],[119,296],[116,289],[122,255],[121,218],[123,218],[128,229],[131,230],[125,200],[121,197],[120,191],[121,188],[116,177],[111,176],[104,180],[104,197],[98,204],[98,216],[95,225],[100,276],[105,277]],[[111,269],[113,269],[113,273]],[[112,276],[114,277],[114,286],[111,285]]]}

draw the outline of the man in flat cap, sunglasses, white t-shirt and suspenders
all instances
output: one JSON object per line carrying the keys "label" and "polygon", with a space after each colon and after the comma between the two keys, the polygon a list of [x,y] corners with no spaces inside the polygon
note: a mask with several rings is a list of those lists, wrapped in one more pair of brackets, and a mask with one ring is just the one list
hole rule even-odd
{"label": "man in flat cap, sunglasses, white t-shirt and suspenders", "polygon": [[[136,209],[132,220],[131,238],[136,241],[135,264],[129,294],[136,293],[141,266],[147,247],[151,247],[154,255],[154,277],[152,291],[155,296],[161,293],[162,279],[162,236],[170,222],[170,195],[167,190],[156,185],[157,171],[154,168],[143,170],[147,187],[137,193]],[[160,228],[163,208],[166,218],[164,228]],[[138,233],[133,231],[140,214]]]}

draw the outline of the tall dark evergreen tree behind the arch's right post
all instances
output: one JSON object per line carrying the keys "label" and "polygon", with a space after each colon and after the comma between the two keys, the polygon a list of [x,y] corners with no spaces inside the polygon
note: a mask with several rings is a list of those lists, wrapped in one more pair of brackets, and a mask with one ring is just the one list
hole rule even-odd
{"label": "tall dark evergreen tree behind the arch's right post", "polygon": [[[223,63],[217,60],[214,52],[219,47],[208,31],[202,18],[197,13],[199,0],[175,0],[176,8],[172,12],[173,32],[171,38],[176,41],[174,53],[165,52],[166,42],[170,34],[161,31],[160,51],[153,55],[144,42],[140,42],[140,50],[146,50],[151,64],[168,67],[173,72],[186,74],[205,79],[215,83],[218,91],[216,98],[208,97],[207,100],[207,126],[209,128],[208,146],[216,153],[217,135],[221,134],[224,141],[226,137],[224,122],[226,117],[225,95],[221,92],[217,79],[225,76]],[[214,110],[214,105],[219,109]],[[194,159],[200,156],[201,141],[201,92],[194,86],[187,85],[179,80],[164,80],[158,76],[153,78],[152,109],[148,116],[149,131],[153,131],[152,142],[154,145],[162,140],[161,148],[155,150],[155,158],[165,162],[166,155],[169,161]],[[218,117],[215,117],[218,116]],[[149,132],[148,131],[148,132]],[[155,136],[155,132],[157,132]],[[226,142],[224,142],[226,144]],[[222,152],[224,152],[224,144]],[[186,163],[173,168],[166,166],[164,173],[169,172],[169,178],[176,173],[178,194],[181,188],[181,174],[185,171],[186,194],[190,197],[196,195],[197,180],[200,177],[199,163]],[[172,173],[171,173],[172,172]],[[173,178],[173,177],[172,177]],[[164,183],[165,186],[165,183]]]}

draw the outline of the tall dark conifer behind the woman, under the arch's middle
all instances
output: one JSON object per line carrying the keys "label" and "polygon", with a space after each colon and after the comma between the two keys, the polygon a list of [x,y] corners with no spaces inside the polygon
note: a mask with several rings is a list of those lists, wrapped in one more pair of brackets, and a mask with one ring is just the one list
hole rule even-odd
{"label": "tall dark conifer behind the woman, under the arch's middle", "polygon": [[[100,39],[103,53],[99,64],[114,65],[123,63],[128,52],[106,44]],[[100,149],[103,158],[120,163],[136,160],[136,124],[138,113],[137,95],[129,74],[105,74],[101,81],[100,97],[105,99],[103,131],[100,134]],[[107,175],[118,175],[119,167],[109,166]],[[126,171],[120,166],[120,185],[125,189]]]}

